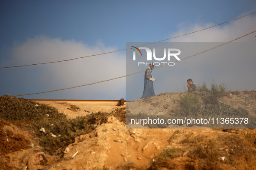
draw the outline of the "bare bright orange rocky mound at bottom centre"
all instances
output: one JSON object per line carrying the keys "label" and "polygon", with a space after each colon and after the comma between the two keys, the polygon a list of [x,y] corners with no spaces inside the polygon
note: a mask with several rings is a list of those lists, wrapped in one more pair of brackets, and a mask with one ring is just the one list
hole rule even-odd
{"label": "bare bright orange rocky mound at bottom centre", "polygon": [[[97,126],[91,134],[78,136],[75,142],[65,149],[64,159],[67,161],[55,164],[51,170],[65,168],[67,164],[77,169],[93,169],[108,164],[115,169],[114,167],[123,161],[147,166],[154,154],[168,144],[168,132],[165,130],[161,133],[161,136],[166,135],[163,141],[159,140],[160,136],[152,138],[155,129],[148,129],[148,133],[143,129],[126,129],[126,125],[113,116],[107,122]],[[78,154],[71,159],[77,151]]]}

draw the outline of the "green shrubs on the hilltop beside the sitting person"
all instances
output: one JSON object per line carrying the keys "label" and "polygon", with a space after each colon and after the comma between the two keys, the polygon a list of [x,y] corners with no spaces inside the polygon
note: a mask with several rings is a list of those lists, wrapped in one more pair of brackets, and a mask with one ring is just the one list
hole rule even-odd
{"label": "green shrubs on the hilltop beside the sitting person", "polygon": [[[178,100],[175,108],[175,118],[193,117],[194,119],[214,118],[215,124],[206,125],[210,128],[251,128],[256,126],[256,118],[251,116],[242,107],[233,108],[230,105],[220,103],[220,99],[228,95],[225,83],[219,85],[214,81],[211,88],[206,83],[198,85],[195,92],[185,92]],[[237,92],[238,93],[238,92]],[[228,118],[228,119],[226,119]],[[233,120],[230,120],[233,118]],[[235,118],[237,118],[235,120]],[[240,118],[247,118],[241,120]],[[211,119],[210,119],[211,120]],[[250,122],[246,121],[250,120]],[[213,121],[213,120],[211,120]],[[241,123],[241,121],[243,121]],[[205,124],[191,123],[190,126],[205,126]]]}

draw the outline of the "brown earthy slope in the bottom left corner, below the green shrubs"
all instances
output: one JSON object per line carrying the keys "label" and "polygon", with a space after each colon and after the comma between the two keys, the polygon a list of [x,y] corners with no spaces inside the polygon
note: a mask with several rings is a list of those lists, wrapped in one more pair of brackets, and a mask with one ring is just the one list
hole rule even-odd
{"label": "brown earthy slope in the bottom left corner, below the green shrubs", "polygon": [[3,126],[3,122],[0,121],[0,137],[4,134],[13,134],[13,139],[7,143],[3,141],[0,143],[0,169],[37,170],[52,164],[55,158],[42,151],[39,139],[34,136],[33,132],[19,129],[12,123],[2,121],[6,125]]}

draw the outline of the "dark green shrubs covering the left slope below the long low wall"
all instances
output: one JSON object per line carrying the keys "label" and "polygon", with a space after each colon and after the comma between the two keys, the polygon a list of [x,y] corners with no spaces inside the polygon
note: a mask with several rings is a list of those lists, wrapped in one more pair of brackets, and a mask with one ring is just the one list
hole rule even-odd
{"label": "dark green shrubs covering the left slope below the long low wall", "polygon": [[98,125],[106,123],[109,116],[115,116],[126,123],[124,109],[116,110],[113,113],[93,113],[68,120],[65,114],[59,113],[55,107],[35,101],[11,98],[8,95],[0,97],[0,118],[29,123],[20,125],[32,128],[42,139],[40,145],[44,151],[52,155],[62,154],[69,144],[75,142],[77,136],[87,134]]}

